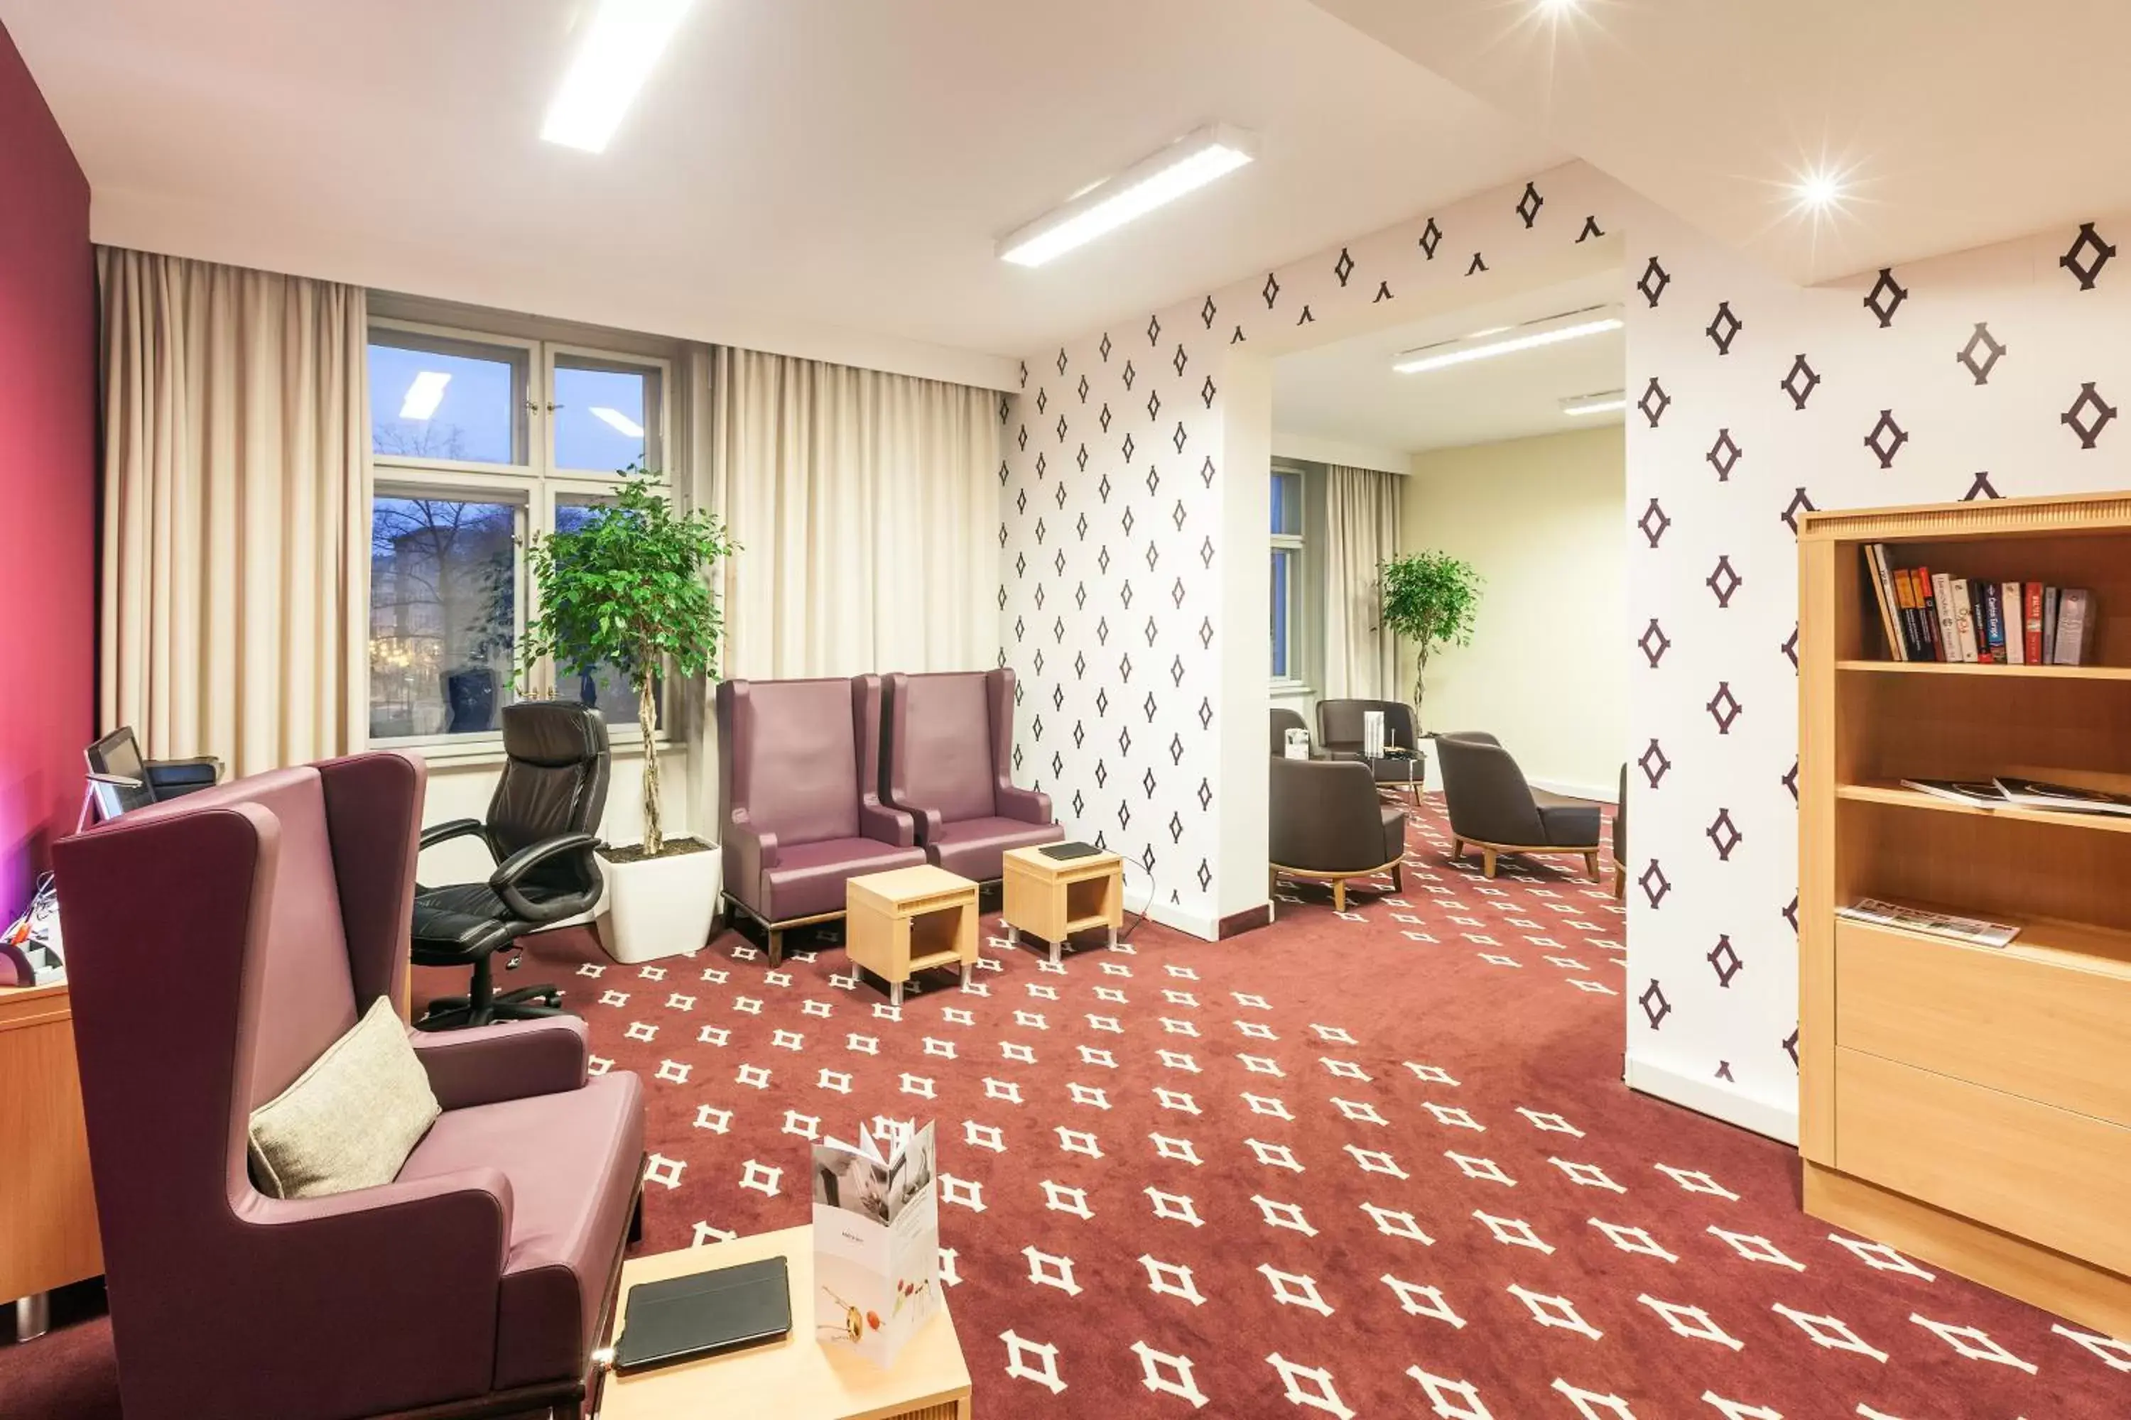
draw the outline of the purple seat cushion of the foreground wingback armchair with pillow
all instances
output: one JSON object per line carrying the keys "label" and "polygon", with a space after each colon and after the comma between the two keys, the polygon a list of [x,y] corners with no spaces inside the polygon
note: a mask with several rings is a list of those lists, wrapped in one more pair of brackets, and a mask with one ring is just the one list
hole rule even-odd
{"label": "purple seat cushion of the foreground wingback armchair with pillow", "polygon": [[582,1090],[448,1109],[401,1167],[401,1179],[501,1169],[511,1233],[497,1301],[497,1390],[578,1373],[599,1345],[614,1241],[644,1165],[644,1092],[612,1073]]}

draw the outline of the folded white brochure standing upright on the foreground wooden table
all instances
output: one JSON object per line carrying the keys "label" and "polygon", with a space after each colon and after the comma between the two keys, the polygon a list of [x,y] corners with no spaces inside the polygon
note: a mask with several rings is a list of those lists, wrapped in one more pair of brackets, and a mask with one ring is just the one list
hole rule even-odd
{"label": "folded white brochure standing upright on the foreground wooden table", "polygon": [[814,1322],[878,1367],[940,1309],[933,1126],[874,1120],[857,1143],[823,1139],[814,1165]]}

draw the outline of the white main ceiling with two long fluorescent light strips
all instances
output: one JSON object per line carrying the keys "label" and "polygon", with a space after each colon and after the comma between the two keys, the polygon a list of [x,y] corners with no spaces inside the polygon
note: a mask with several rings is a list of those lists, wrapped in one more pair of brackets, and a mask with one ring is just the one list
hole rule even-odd
{"label": "white main ceiling with two long fluorescent light strips", "polygon": [[[961,379],[1564,158],[1304,0],[697,0],[586,155],[537,141],[580,13],[0,0],[100,241]],[[993,255],[1213,119],[1259,160]]]}

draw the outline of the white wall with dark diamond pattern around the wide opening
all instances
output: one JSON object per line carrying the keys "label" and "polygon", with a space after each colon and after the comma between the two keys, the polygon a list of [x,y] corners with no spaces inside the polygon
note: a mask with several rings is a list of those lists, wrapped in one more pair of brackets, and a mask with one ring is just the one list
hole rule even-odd
{"label": "white wall with dark diamond pattern around the wide opening", "polygon": [[[1227,353],[1357,307],[1441,309],[1624,243],[1632,864],[1628,1075],[1796,1130],[1796,549],[1805,509],[2120,488],[2131,217],[1799,290],[1583,164],[1424,213],[1027,360],[1002,400],[1016,754],[1072,832],[1213,920],[1223,794]],[[1801,236],[1803,241],[1805,236]],[[2131,445],[2127,445],[2131,447]],[[1240,488],[1240,485],[1238,485]],[[1259,558],[1253,543],[1240,556]],[[1515,749],[1515,745],[1511,745]],[[1144,877],[1140,879],[1144,886]],[[1238,879],[1240,881],[1240,879]]]}

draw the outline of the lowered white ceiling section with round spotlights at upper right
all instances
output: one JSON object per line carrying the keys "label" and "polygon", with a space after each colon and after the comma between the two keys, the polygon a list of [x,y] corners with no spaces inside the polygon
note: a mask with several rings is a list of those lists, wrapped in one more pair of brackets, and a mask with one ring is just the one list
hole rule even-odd
{"label": "lowered white ceiling section with round spotlights at upper right", "polygon": [[2131,207],[2122,0],[1315,4],[1803,283]]}

